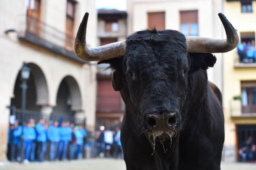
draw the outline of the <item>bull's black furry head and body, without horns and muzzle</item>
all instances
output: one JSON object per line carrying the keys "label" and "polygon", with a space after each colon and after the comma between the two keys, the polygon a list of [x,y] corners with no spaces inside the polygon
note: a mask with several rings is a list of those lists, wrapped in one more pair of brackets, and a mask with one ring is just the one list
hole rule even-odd
{"label": "bull's black furry head and body, without horns and muzzle", "polygon": [[[186,38],[174,30],[156,29],[127,37],[126,53],[110,63],[113,88],[125,102],[121,142],[127,170],[220,170],[224,115],[207,80],[216,58],[186,52]],[[155,151],[148,139],[145,115],[177,110],[177,135]]]}

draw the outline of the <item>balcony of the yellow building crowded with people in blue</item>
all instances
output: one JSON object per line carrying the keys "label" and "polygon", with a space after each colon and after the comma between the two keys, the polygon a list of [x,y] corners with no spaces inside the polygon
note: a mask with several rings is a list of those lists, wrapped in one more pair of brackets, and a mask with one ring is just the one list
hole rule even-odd
{"label": "balcony of the yellow building crowded with people in blue", "polygon": [[239,43],[237,47],[236,67],[256,67],[256,48],[254,41]]}

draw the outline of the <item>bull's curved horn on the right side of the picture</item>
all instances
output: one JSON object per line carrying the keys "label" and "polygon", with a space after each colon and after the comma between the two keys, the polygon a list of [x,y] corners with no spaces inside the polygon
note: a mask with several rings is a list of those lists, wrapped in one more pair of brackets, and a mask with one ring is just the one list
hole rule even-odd
{"label": "bull's curved horn on the right side of the picture", "polygon": [[236,48],[239,43],[239,36],[236,29],[227,20],[224,14],[218,13],[224,26],[227,39],[217,40],[206,37],[186,36],[187,52],[191,53],[223,53]]}

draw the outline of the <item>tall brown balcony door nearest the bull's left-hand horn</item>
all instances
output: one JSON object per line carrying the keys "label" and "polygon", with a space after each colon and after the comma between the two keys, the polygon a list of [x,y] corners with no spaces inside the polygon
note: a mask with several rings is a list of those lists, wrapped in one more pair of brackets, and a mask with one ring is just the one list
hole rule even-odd
{"label": "tall brown balcony door nearest the bull's left-hand horn", "polygon": [[67,0],[67,19],[66,19],[66,40],[65,47],[73,50],[74,46],[74,24],[75,24],[75,2]]}

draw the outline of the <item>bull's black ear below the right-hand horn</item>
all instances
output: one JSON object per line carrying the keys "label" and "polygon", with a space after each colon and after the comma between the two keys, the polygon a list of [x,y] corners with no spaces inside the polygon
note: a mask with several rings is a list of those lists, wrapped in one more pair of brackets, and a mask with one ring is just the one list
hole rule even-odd
{"label": "bull's black ear below the right-hand horn", "polygon": [[213,67],[217,60],[211,53],[189,53],[189,55],[191,56],[190,69],[192,71],[207,70],[209,67]]}

